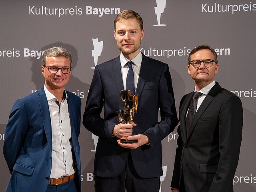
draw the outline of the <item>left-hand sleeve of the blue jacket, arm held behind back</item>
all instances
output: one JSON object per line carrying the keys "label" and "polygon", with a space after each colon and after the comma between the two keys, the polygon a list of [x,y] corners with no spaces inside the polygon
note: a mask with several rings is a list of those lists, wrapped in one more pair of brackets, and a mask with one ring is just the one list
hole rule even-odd
{"label": "left-hand sleeve of the blue jacket, arm held behind back", "polygon": [[28,128],[26,108],[22,100],[19,99],[12,107],[4,133],[3,153],[10,173],[12,173],[13,166],[18,158]]}

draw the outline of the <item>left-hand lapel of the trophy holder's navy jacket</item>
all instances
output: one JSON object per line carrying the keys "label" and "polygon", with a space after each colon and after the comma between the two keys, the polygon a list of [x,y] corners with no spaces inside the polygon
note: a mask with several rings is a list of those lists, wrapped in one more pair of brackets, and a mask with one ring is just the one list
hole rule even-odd
{"label": "left-hand lapel of the trophy holder's navy jacket", "polygon": [[114,59],[112,63],[112,68],[114,72],[114,78],[116,81],[118,93],[121,97],[121,90],[124,90],[124,84],[123,84],[123,78],[122,78],[122,72],[121,72],[120,55]]}

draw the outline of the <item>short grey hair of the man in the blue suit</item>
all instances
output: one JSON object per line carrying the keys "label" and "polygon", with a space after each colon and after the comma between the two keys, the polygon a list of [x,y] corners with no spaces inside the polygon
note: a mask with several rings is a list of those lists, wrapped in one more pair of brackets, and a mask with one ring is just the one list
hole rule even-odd
{"label": "short grey hair of the man in the blue suit", "polygon": [[42,56],[42,66],[46,66],[47,57],[65,57],[70,61],[70,67],[72,63],[72,56],[68,50],[63,47],[52,47],[44,51]]}

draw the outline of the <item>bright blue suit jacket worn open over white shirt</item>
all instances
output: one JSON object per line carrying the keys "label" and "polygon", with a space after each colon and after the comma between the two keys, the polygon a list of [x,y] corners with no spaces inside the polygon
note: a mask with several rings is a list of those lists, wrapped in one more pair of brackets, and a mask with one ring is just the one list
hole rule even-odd
{"label": "bright blue suit jacket worn open over white shirt", "polygon": [[[72,154],[78,174],[75,178],[81,190],[81,99],[68,91],[67,96]],[[52,127],[43,87],[15,102],[6,125],[3,152],[11,173],[8,192],[46,191],[52,168]]]}

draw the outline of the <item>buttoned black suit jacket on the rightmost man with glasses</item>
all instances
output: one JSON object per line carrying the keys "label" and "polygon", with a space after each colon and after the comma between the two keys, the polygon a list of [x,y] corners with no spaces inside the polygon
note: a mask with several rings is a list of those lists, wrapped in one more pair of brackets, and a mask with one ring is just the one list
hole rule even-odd
{"label": "buttoned black suit jacket on the rightmost man with glasses", "polygon": [[186,113],[194,92],[180,101],[178,148],[171,186],[188,192],[233,192],[233,178],[242,140],[241,100],[230,91],[212,87],[186,134]]}

